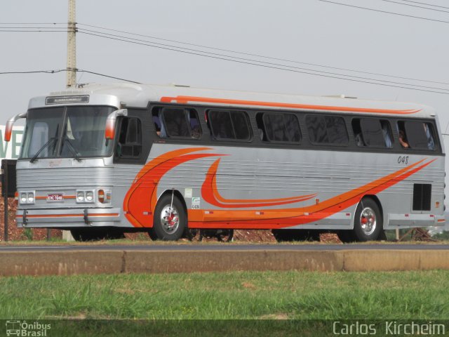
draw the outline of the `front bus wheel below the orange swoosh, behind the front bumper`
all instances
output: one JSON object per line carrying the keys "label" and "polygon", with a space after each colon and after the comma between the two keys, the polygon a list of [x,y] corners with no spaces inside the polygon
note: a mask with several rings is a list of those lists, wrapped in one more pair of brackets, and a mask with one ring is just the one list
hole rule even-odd
{"label": "front bus wheel below the orange swoosh, behind the front bumper", "polygon": [[177,241],[183,236],[186,227],[187,213],[182,202],[175,195],[165,194],[159,199],[154,210],[153,227],[149,230],[150,237],[163,241]]}

